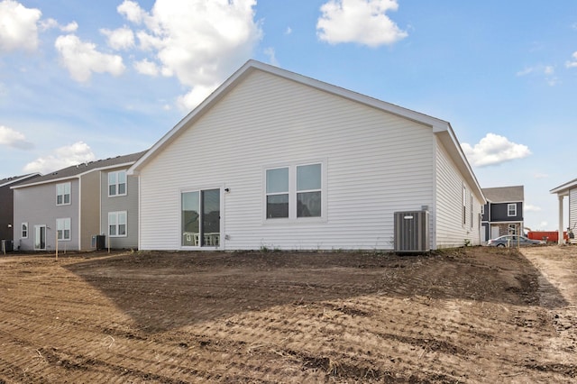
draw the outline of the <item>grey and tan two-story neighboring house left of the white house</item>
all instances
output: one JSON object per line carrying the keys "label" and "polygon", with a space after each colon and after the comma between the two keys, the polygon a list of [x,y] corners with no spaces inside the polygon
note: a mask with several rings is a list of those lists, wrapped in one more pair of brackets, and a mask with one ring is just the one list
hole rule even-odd
{"label": "grey and tan two-story neighboring house left of the white house", "polygon": [[21,251],[138,246],[138,178],[126,170],[144,152],[60,169],[14,189],[15,245]]}

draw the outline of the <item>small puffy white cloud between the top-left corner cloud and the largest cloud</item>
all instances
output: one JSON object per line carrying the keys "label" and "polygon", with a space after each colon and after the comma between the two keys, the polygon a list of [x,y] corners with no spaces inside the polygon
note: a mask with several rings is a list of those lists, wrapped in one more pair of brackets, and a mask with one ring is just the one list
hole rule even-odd
{"label": "small puffy white cloud between the top-left corner cloud and the largest cloud", "polygon": [[60,52],[62,64],[76,81],[87,82],[92,72],[108,72],[114,76],[124,72],[122,57],[99,52],[95,44],[80,41],[76,35],[59,36],[54,46]]}

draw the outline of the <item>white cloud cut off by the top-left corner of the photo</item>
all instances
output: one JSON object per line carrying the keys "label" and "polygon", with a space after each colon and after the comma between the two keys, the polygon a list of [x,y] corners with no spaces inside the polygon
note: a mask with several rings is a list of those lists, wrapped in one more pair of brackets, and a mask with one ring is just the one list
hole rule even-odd
{"label": "white cloud cut off by the top-left corner of the photo", "polygon": [[0,51],[33,51],[38,48],[41,11],[26,8],[14,0],[0,2]]}

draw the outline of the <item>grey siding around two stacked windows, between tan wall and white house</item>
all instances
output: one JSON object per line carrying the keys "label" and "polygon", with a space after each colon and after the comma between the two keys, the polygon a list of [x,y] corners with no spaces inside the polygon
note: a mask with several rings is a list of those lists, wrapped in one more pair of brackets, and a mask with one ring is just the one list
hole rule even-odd
{"label": "grey siding around two stacked windows, between tan wall and white house", "polygon": [[[102,208],[100,212],[100,230],[98,233],[105,234],[106,245],[111,248],[129,249],[138,248],[138,178],[128,176],[126,178],[126,196],[108,197],[108,173],[123,170],[106,169],[100,173],[100,196]],[[126,211],[126,236],[110,237],[108,235],[108,213]]]}

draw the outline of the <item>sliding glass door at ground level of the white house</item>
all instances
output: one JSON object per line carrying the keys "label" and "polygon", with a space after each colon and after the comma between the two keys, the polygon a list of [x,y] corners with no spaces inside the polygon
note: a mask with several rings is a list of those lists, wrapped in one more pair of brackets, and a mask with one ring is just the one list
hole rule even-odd
{"label": "sliding glass door at ground level of the white house", "polygon": [[180,217],[182,246],[220,245],[220,189],[181,193]]}

